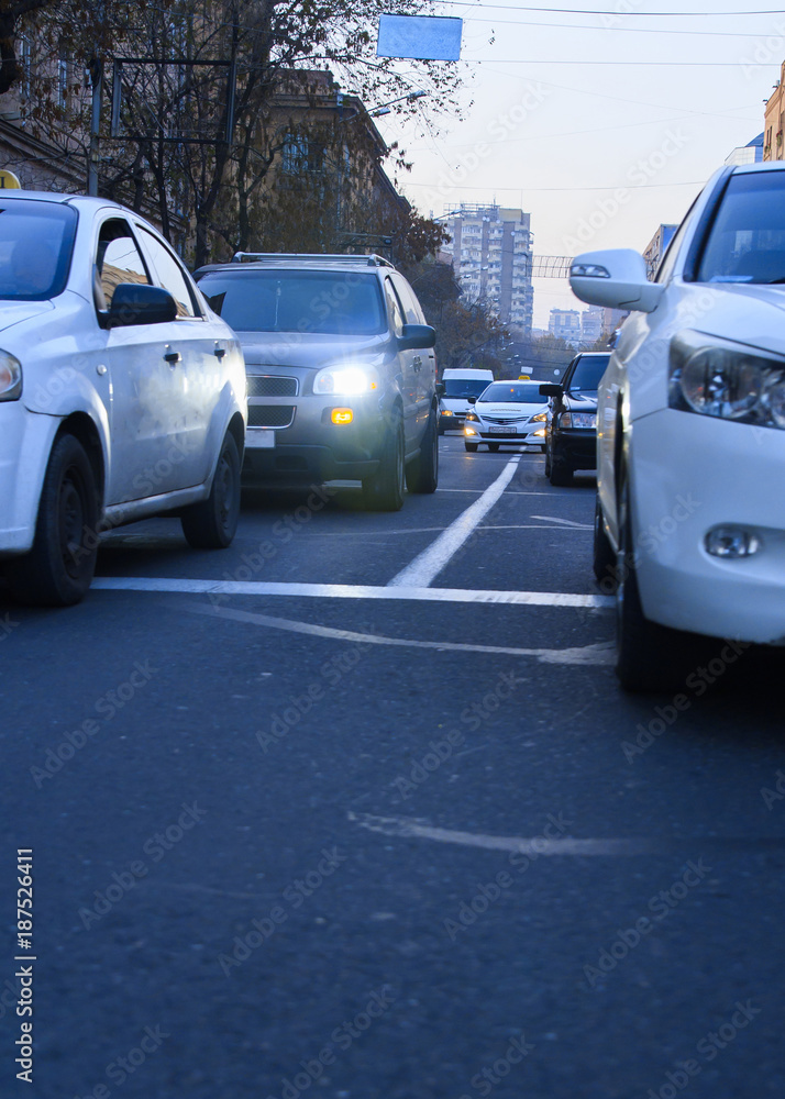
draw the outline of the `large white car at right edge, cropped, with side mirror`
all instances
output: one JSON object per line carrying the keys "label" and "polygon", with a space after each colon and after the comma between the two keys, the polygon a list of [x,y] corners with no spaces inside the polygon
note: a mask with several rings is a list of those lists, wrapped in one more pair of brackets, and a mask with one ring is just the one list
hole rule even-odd
{"label": "large white car at right edge, cropped, with side mirror", "polygon": [[574,259],[571,285],[632,310],[597,418],[617,671],[688,698],[707,655],[716,679],[745,645],[785,643],[785,164],[712,176],[653,282],[615,251]]}

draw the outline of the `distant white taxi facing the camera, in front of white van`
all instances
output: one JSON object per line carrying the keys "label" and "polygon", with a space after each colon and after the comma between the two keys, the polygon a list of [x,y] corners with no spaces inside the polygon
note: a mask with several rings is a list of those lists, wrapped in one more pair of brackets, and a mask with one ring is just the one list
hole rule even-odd
{"label": "distant white taxi facing the camera, in front of white van", "polygon": [[474,453],[480,443],[489,451],[499,446],[535,446],[545,449],[548,401],[540,393],[539,381],[494,381],[466,413],[464,446]]}

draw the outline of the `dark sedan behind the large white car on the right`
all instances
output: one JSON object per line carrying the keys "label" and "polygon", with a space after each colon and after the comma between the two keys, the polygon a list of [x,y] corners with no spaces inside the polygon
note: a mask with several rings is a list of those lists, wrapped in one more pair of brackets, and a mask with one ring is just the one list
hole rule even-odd
{"label": "dark sedan behind the large white car on the right", "polygon": [[576,469],[597,467],[597,388],[610,354],[583,352],[564,373],[562,384],[542,385],[551,398],[545,429],[545,476],[552,485],[570,486]]}

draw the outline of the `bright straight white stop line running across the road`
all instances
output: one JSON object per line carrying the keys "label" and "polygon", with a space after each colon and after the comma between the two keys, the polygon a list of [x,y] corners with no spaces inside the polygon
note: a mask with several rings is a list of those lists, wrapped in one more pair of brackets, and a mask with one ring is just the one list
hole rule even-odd
{"label": "bright straight white stop line running across the road", "polygon": [[166,591],[173,595],[289,596],[310,599],[409,599],[434,603],[495,603],[506,607],[575,607],[609,611],[611,596],[563,591],[496,591],[493,588],[377,588],[363,584],[285,584],[276,580],[188,580],[161,576],[97,576],[92,590]]}

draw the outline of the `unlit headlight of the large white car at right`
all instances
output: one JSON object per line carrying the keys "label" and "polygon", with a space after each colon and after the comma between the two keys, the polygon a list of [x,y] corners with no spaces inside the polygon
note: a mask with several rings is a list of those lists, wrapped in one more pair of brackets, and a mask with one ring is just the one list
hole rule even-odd
{"label": "unlit headlight of the large white car at right", "polygon": [[668,404],[684,412],[785,428],[785,358],[679,332],[671,341]]}

